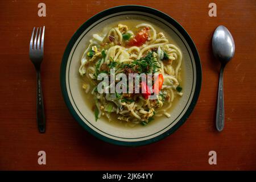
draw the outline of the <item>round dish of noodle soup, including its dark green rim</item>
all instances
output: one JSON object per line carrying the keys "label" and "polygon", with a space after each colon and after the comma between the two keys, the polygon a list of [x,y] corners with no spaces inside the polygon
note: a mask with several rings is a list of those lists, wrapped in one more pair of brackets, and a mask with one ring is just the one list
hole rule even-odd
{"label": "round dish of noodle soup, including its dark green rim", "polygon": [[75,32],[60,82],[84,129],[109,143],[140,146],[167,137],[189,117],[200,93],[201,64],[191,37],[170,16],[117,6]]}

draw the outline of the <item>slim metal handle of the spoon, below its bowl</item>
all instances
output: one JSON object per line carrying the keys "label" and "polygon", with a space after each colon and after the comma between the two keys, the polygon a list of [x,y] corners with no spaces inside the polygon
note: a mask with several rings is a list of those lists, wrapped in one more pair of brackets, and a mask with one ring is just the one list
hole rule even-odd
{"label": "slim metal handle of the spoon, below its bowl", "polygon": [[218,100],[216,111],[216,129],[222,131],[224,127],[224,94],[223,94],[223,72],[225,64],[221,64],[220,78],[218,81]]}

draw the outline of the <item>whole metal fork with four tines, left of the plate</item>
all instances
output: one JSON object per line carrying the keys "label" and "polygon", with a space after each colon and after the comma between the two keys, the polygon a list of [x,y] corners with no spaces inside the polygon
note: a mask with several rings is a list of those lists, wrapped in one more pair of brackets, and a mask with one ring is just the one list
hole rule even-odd
{"label": "whole metal fork with four tines, left of the plate", "polygon": [[36,28],[36,32],[35,27],[33,29],[30,40],[30,60],[36,69],[36,121],[38,122],[39,132],[44,133],[46,131],[46,117],[44,115],[43,92],[40,75],[40,65],[43,61],[44,53],[44,27],[42,36],[41,30],[41,27],[40,29]]}

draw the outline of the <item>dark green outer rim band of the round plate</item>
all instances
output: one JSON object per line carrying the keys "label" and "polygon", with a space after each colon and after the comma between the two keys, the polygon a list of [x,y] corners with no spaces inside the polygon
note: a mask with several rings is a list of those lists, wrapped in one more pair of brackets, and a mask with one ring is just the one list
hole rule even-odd
{"label": "dark green outer rim band of the round plate", "polygon": [[[149,13],[149,14],[154,14],[155,16],[158,16],[159,18],[162,18],[166,20],[168,23],[172,24],[177,31],[180,32],[180,34],[184,37],[186,42],[188,43],[189,48],[192,51],[193,57],[195,59],[195,67],[196,67],[196,85],[195,85],[195,92],[193,93],[192,96],[192,101],[190,105],[188,106],[187,111],[185,111],[185,114],[179,121],[171,127],[171,129],[167,130],[163,134],[158,135],[157,137],[146,139],[146,140],[141,140],[141,141],[135,141],[135,142],[126,142],[126,141],[121,141],[121,140],[115,140],[112,138],[108,138],[100,133],[97,133],[97,131],[92,130],[82,119],[79,117],[79,115],[76,113],[73,105],[71,104],[71,100],[68,96],[68,88],[66,86],[66,69],[67,69],[67,62],[68,62],[68,57],[71,53],[71,50],[73,46],[75,45],[77,39],[79,39],[80,35],[89,27],[91,26],[94,22],[97,20],[100,20],[101,18],[104,18],[105,16],[115,14],[115,13],[121,13],[123,11],[141,11],[144,13]],[[174,133],[183,123],[186,121],[186,119],[189,117],[189,115],[192,113],[192,110],[194,109],[196,102],[199,98],[200,94],[200,89],[201,89],[201,79],[202,79],[202,73],[201,73],[201,63],[200,63],[200,57],[199,53],[197,52],[195,43],[193,43],[193,40],[191,37],[188,35],[187,31],[176,22],[171,16],[168,16],[167,14],[162,13],[159,10],[152,9],[151,7],[146,7],[146,6],[138,6],[138,5],[126,5],[126,6],[117,6],[117,7],[112,7],[110,9],[101,11],[100,13],[92,16],[92,18],[88,19],[82,26],[75,32],[75,34],[72,36],[71,40],[68,43],[67,48],[65,49],[63,59],[61,62],[61,67],[60,67],[60,86],[61,86],[61,92],[64,97],[65,104],[67,105],[69,111],[73,115],[73,117],[76,119],[77,122],[80,123],[82,127],[84,127],[85,130],[87,130],[90,134],[93,134],[95,137],[104,140],[105,142],[109,142],[112,144],[118,144],[121,146],[142,146],[145,144],[150,144],[156,141],[159,141],[163,138],[166,138],[168,135]]]}

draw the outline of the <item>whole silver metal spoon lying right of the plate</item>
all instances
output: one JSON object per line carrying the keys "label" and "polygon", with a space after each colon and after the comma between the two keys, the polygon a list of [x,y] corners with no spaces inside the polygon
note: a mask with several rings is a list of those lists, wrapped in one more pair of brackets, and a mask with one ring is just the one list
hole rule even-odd
{"label": "whole silver metal spoon lying right of the plate", "polygon": [[232,59],[235,52],[234,39],[228,28],[222,25],[216,28],[212,38],[212,49],[214,56],[221,62],[220,78],[218,81],[216,129],[222,131],[224,127],[223,72],[225,65]]}

